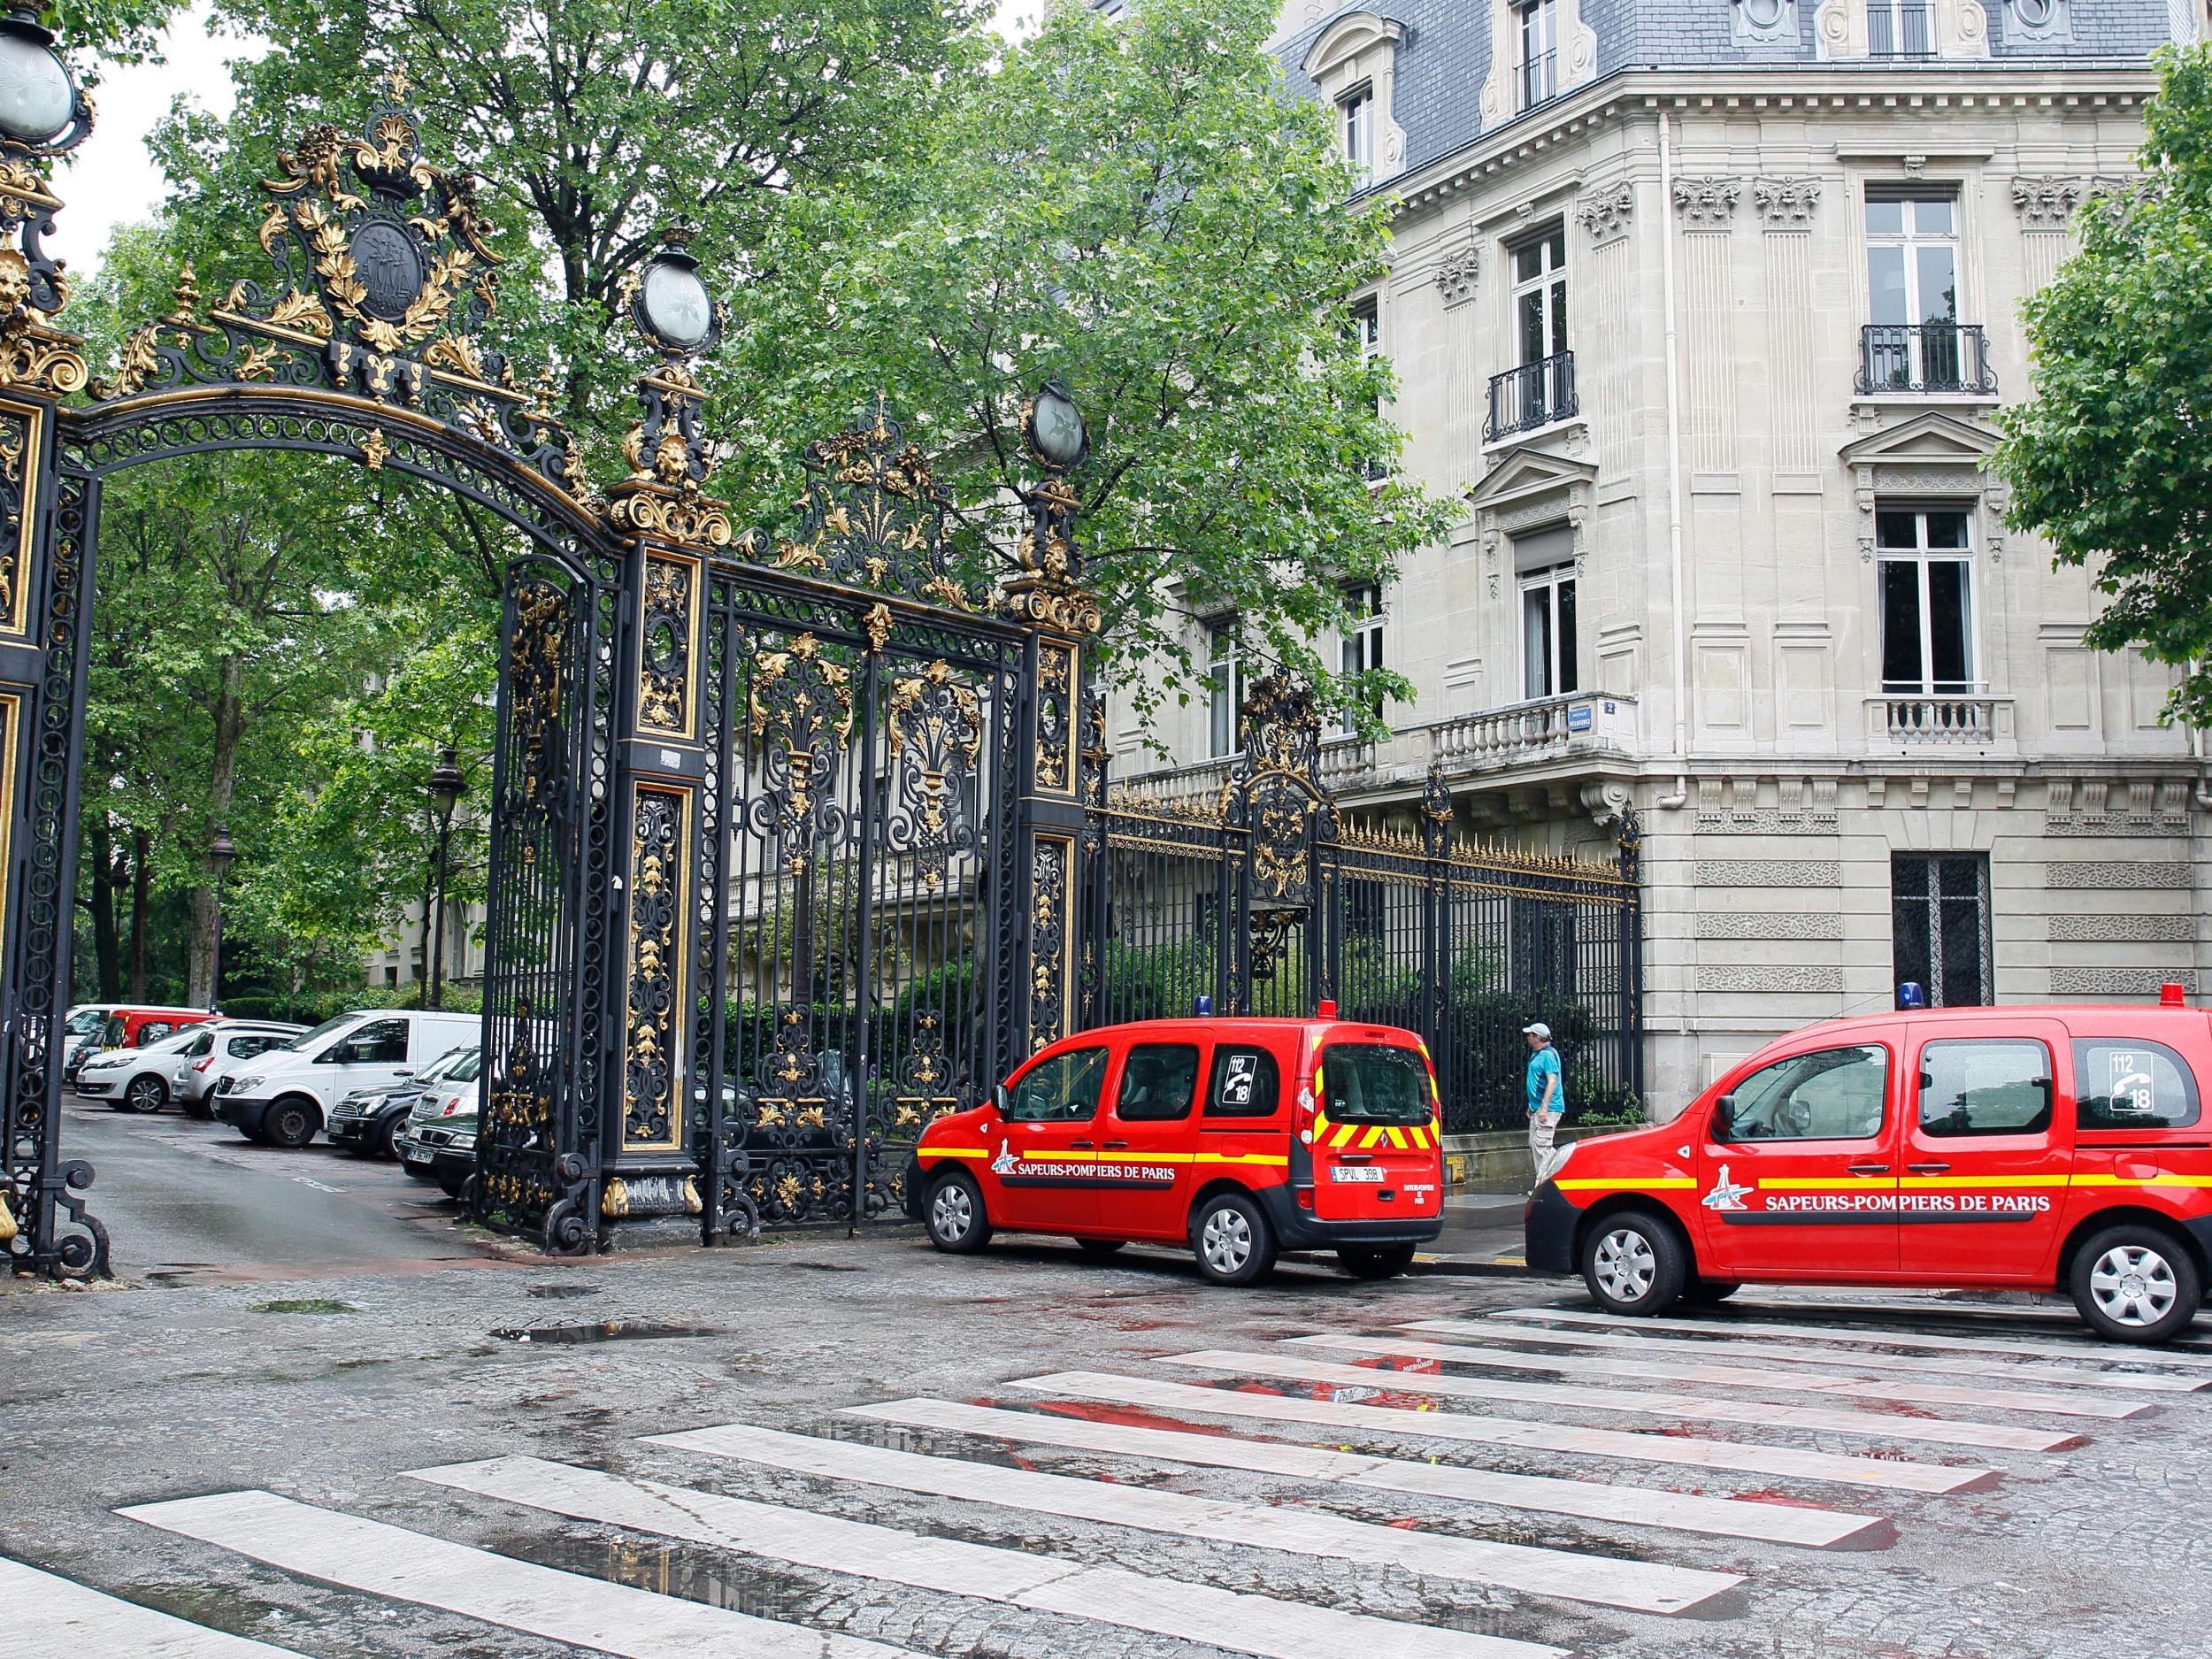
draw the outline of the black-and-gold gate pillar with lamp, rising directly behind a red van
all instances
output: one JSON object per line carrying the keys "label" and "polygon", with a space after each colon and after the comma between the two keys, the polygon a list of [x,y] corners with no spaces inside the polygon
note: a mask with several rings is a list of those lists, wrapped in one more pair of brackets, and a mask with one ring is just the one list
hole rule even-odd
{"label": "black-and-gold gate pillar with lamp, rising directly behind a red van", "polygon": [[[1022,409],[1022,434],[1044,480],[1024,491],[1029,529],[1015,546],[1022,575],[1006,584],[1013,615],[1029,624],[1022,672],[1022,741],[1015,823],[1020,834],[1013,1031],[1002,1075],[1077,1029],[1082,1002],[1082,843],[1088,825],[1084,776],[1104,763],[1086,743],[1084,690],[1093,675],[1099,604],[1082,588],[1075,551],[1079,498],[1068,473],[1091,451],[1066,387],[1046,380]],[[1086,748],[1093,752],[1086,754]],[[1004,971],[1004,969],[1002,969]]]}

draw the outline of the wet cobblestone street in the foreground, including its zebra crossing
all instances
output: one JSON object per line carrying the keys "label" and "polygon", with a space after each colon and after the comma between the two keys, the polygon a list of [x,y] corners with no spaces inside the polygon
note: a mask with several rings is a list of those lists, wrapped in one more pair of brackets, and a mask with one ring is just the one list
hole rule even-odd
{"label": "wet cobblestone street in the foreground, including its zebra crossing", "polygon": [[2199,1385],[2048,1303],[911,1234],[18,1285],[0,1597],[69,1659],[2179,1659]]}

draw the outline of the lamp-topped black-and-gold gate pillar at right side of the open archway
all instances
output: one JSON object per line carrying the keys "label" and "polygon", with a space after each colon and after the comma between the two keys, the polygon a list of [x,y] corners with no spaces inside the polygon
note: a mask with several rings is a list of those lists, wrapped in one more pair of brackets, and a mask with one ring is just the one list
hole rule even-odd
{"label": "lamp-topped black-and-gold gate pillar at right side of the open archway", "polygon": [[[628,538],[615,639],[615,880],[604,896],[619,971],[606,1020],[617,1053],[602,1077],[599,1234],[672,1219],[695,1230],[699,1170],[719,1170],[706,1091],[717,1088],[726,967],[721,860],[726,726],[706,637],[708,557],[734,540],[728,504],[703,491],[712,458],[699,434],[697,354],[721,338],[721,312],[670,239],[628,290],[630,321],[661,354],[639,383],[624,440],[628,478],[608,518]],[[710,1183],[712,1186],[712,1183]]]}

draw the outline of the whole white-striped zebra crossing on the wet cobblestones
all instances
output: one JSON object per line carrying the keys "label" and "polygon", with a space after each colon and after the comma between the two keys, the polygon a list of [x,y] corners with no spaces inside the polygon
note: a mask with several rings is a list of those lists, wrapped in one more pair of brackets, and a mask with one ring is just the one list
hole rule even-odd
{"label": "whole white-striped zebra crossing on the wet cobblestones", "polygon": [[[860,1597],[995,1608],[993,1650],[1040,1659],[1150,1639],[1265,1659],[1566,1659],[1595,1652],[1573,1646],[1590,1613],[1745,1617],[1785,1568],[1940,1535],[1962,1493],[2039,1475],[2088,1438],[2141,1433],[2146,1416],[2190,1431],[2203,1411],[2201,1352],[2115,1352],[2022,1325],[2033,1334],[1958,1336],[1809,1301],[1657,1321],[1584,1303],[1354,1318],[1013,1376],[987,1398],[672,1429],[626,1442],[611,1467],[511,1453],[394,1471],[442,1531],[482,1537],[498,1520],[495,1548],[365,1500],[257,1489],[115,1513],[179,1551],[626,1659],[964,1648],[918,1641],[927,1624],[898,1646],[529,1559],[518,1540],[533,1524],[801,1568]],[[1542,1517],[1544,1542],[1515,1517]],[[1020,1544],[984,1542],[1006,1535]],[[195,1559],[179,1555],[179,1571]],[[1225,1559],[1263,1564],[1267,1593],[1250,1573],[1212,1582]],[[1433,1617],[1332,1590],[1347,1573],[1418,1586]],[[316,1646],[327,1628],[272,1646],[4,1557],[0,1604],[42,1608],[29,1652],[58,1659],[332,1652]],[[347,1628],[343,1652],[405,1652],[385,1639]]]}

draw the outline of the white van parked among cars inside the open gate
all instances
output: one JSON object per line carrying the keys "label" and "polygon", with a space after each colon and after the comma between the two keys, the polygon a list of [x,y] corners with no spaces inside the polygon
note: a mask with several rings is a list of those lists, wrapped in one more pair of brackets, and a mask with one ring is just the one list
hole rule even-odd
{"label": "white van parked among cars inside the open gate", "polygon": [[447,1048],[476,1042],[480,1029],[473,1013],[341,1013],[223,1077],[215,1115],[250,1141],[305,1146],[356,1088],[389,1088]]}

